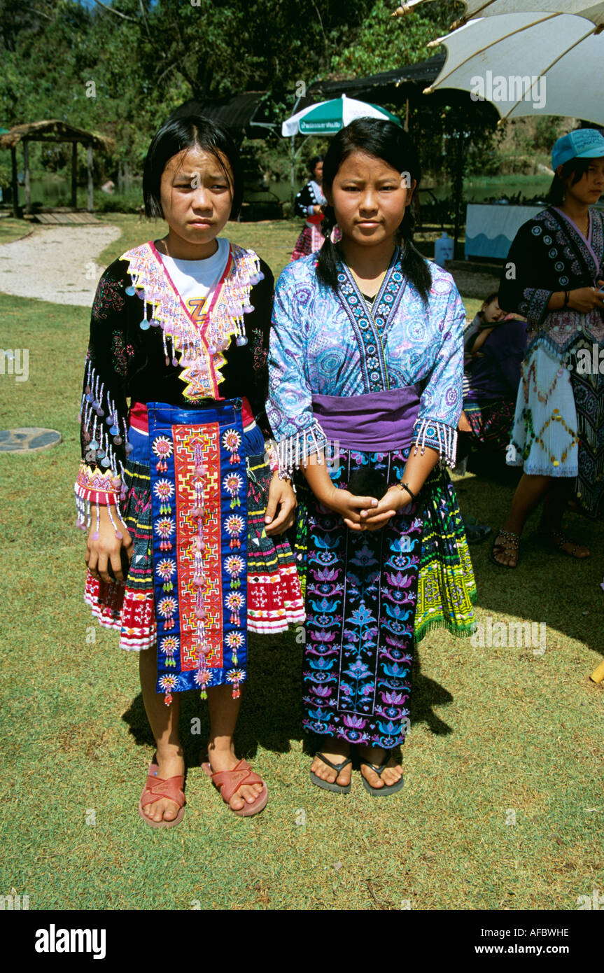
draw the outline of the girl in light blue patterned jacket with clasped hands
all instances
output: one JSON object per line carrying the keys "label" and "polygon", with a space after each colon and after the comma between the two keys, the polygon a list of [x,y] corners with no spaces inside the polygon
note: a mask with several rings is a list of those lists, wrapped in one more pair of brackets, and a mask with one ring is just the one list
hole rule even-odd
{"label": "girl in light blue patterned jacket with clasped hands", "polygon": [[[392,122],[360,119],[324,163],[320,253],[281,273],[268,419],[305,501],[303,726],[325,737],[311,779],[350,790],[351,745],[374,795],[403,786],[414,642],[474,628],[472,565],[453,487],[465,310],[413,248],[419,167]],[[304,485],[305,479],[307,486]]]}

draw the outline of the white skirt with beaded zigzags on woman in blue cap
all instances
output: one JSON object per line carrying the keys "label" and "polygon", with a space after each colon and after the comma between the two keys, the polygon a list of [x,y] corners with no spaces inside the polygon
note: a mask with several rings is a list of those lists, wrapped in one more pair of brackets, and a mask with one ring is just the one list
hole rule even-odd
{"label": "white skirt with beaded zigzags on woman in blue cap", "polygon": [[522,362],[510,466],[529,476],[577,477],[579,425],[570,373],[562,356],[538,344]]}

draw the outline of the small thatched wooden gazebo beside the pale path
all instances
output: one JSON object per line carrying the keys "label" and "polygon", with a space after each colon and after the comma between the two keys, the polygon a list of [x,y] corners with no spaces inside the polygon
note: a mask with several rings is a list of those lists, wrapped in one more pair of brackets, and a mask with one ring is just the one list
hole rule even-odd
{"label": "small thatched wooden gazebo beside the pale path", "polygon": [[11,128],[5,135],[0,135],[0,149],[11,150],[13,212],[18,216],[18,179],[17,179],[17,146],[23,146],[23,172],[25,181],[25,212],[31,212],[31,188],[29,184],[29,143],[30,142],[71,142],[71,205],[77,207],[77,178],[78,178],[78,143],[87,148],[87,167],[89,176],[88,211],[94,211],[92,198],[92,149],[111,152],[115,142],[105,135],[99,135],[86,128],[78,128],[58,119],[45,122],[30,122]]}

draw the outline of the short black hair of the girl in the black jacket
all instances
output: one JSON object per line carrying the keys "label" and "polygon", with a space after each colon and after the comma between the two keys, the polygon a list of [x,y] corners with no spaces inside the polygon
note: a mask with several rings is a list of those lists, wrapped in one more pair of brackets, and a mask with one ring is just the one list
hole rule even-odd
{"label": "short black hair of the girl in the black jacket", "polygon": [[[232,194],[231,220],[236,219],[243,201],[243,172],[239,153],[229,132],[203,115],[169,118],[154,135],[143,170],[143,197],[147,216],[155,219],[163,217],[160,187],[161,175],[167,162],[184,149],[194,148],[203,149],[214,156],[225,173]],[[232,178],[221,157],[228,160]]]}

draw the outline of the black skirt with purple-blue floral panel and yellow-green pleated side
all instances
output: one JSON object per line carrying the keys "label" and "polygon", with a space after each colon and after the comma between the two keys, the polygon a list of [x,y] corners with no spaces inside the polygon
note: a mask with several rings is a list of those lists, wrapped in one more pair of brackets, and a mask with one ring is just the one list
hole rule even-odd
{"label": "black skirt with purple-blue floral panel and yellow-green pleated side", "polygon": [[[371,464],[398,482],[409,450],[339,451],[332,479]],[[448,475],[435,470],[417,503],[380,530],[349,530],[299,489],[305,562],[303,727],[385,748],[409,728],[414,643],[431,629],[475,629],[476,585]],[[300,569],[300,568],[299,568]]]}

